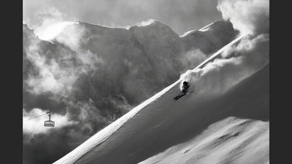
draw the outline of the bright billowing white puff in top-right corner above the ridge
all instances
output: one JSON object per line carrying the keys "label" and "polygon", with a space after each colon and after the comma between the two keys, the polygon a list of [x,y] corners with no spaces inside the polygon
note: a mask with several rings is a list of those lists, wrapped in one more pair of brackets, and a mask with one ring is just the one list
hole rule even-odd
{"label": "bright billowing white puff in top-right corner above the ridge", "polygon": [[218,1],[217,9],[241,34],[269,33],[268,0],[222,0]]}

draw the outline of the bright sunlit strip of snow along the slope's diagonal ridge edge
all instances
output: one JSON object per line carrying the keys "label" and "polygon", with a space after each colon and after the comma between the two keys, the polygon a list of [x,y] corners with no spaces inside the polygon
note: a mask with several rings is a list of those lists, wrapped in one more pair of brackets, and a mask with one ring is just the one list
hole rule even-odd
{"label": "bright sunlit strip of snow along the slope's diagonal ridge edge", "polygon": [[[196,69],[204,66],[206,63],[208,63],[208,61],[210,61],[211,59],[213,59],[214,57],[216,57],[218,54],[222,53],[224,50],[226,50],[228,47],[230,47],[234,43],[238,42],[245,35],[242,35],[242,36],[234,39],[232,42],[230,42],[229,44],[227,44],[226,46],[224,46],[223,48],[221,48],[220,50],[218,50],[216,53],[214,53],[213,55],[211,55],[209,58],[207,58],[205,61],[203,61],[203,63],[201,63],[200,65],[198,65],[193,70],[196,70]],[[170,85],[167,88],[163,89],[162,91],[160,91],[159,93],[155,94],[151,98],[145,100],[142,104],[140,104],[139,106],[133,108],[131,111],[129,111],[128,113],[126,113],[125,115],[123,115],[122,117],[120,117],[119,119],[117,119],[116,121],[114,121],[111,125],[108,125],[104,129],[102,129],[101,131],[99,131],[98,133],[96,133],[94,136],[92,136],[89,139],[87,139],[79,147],[77,147],[76,149],[72,150],[67,155],[65,155],[64,157],[60,158],[59,160],[57,160],[53,164],[58,164],[58,163],[61,163],[61,164],[67,163],[67,164],[69,164],[69,163],[76,162],[83,155],[85,155],[90,150],[92,150],[95,147],[97,147],[104,140],[106,140],[108,137],[110,137],[112,134],[114,134],[125,122],[127,122],[132,117],[134,117],[141,109],[143,109],[147,105],[150,105],[153,101],[155,101],[161,95],[165,94],[167,91],[169,91],[175,85],[177,85],[180,81],[181,81],[181,79],[178,79],[172,85]]]}

